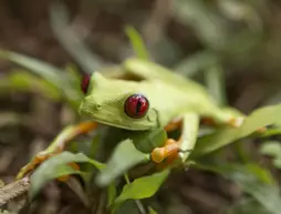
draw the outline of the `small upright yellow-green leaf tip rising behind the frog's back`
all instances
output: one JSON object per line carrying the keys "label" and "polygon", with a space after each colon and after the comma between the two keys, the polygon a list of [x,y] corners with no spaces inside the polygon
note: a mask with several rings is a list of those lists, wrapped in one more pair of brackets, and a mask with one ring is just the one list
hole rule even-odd
{"label": "small upright yellow-green leaf tip rising behind the frog's back", "polygon": [[149,55],[146,51],[146,48],[140,34],[133,27],[129,27],[129,26],[126,27],[125,32],[131,41],[131,44],[137,58],[143,60],[149,60]]}

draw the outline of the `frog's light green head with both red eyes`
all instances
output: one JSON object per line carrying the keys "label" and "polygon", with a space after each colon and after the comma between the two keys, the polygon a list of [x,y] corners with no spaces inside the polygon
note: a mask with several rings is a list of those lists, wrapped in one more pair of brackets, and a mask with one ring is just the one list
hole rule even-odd
{"label": "frog's light green head with both red eyes", "polygon": [[82,82],[85,98],[80,114],[126,130],[149,130],[159,125],[158,113],[139,82],[106,79],[95,72]]}

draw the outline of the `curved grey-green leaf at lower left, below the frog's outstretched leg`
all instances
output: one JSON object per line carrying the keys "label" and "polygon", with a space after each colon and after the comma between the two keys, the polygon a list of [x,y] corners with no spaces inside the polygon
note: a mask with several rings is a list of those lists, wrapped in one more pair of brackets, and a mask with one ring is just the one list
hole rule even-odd
{"label": "curved grey-green leaf at lower left, below the frog's outstretched leg", "polygon": [[72,169],[70,165],[66,165],[67,163],[73,162],[90,163],[98,170],[104,167],[104,164],[91,160],[82,153],[73,154],[70,152],[63,152],[44,161],[38,167],[38,170],[35,170],[35,172],[31,176],[30,196],[33,197],[45,183],[55,177],[70,174],[82,174],[82,172]]}

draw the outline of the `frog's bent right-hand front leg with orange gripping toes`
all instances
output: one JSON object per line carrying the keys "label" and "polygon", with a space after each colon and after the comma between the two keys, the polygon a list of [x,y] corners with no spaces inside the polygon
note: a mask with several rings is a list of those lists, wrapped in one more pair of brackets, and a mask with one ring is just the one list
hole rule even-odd
{"label": "frog's bent right-hand front leg with orange gripping toes", "polygon": [[177,159],[179,159],[181,163],[186,162],[196,143],[199,115],[196,113],[186,113],[180,119],[169,123],[165,130],[170,132],[178,128],[181,128],[178,140],[168,139],[164,146],[156,147],[152,152],[152,160],[159,164],[162,169],[169,166]]}

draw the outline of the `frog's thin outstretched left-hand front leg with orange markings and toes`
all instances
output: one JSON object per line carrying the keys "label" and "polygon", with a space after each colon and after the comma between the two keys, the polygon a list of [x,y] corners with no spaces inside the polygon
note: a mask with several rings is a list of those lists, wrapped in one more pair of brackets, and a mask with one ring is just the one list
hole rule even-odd
{"label": "frog's thin outstretched left-hand front leg with orange markings and toes", "polygon": [[[28,163],[20,170],[20,172],[17,175],[17,180],[22,179],[23,176],[30,174],[37,166],[39,166],[45,160],[63,152],[64,147],[69,142],[71,142],[71,140],[73,140],[80,134],[89,133],[90,131],[96,129],[96,126],[97,124],[94,122],[82,122],[77,125],[66,128],[56,136],[53,143],[45,151],[38,153],[30,163]],[[79,169],[79,166],[75,163],[70,163],[70,165],[74,170]],[[58,180],[66,181],[67,176],[59,177]]]}

